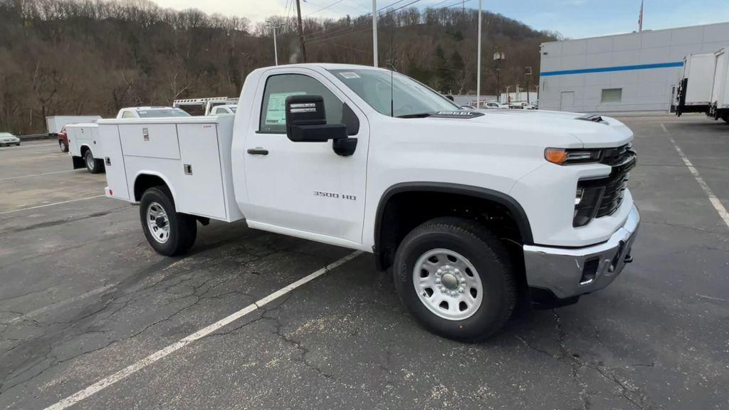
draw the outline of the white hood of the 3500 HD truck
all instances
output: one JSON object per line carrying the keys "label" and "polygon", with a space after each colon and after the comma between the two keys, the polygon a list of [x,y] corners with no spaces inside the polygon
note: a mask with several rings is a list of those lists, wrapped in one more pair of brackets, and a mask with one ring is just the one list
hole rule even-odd
{"label": "white hood of the 3500 HD truck", "polygon": [[[477,117],[429,117],[437,123],[456,122],[490,125],[511,135],[539,134],[549,139],[564,140],[572,136],[583,148],[619,147],[633,139],[633,131],[615,118],[577,112],[542,111],[531,109],[478,109]],[[545,141],[550,144],[550,141]]]}

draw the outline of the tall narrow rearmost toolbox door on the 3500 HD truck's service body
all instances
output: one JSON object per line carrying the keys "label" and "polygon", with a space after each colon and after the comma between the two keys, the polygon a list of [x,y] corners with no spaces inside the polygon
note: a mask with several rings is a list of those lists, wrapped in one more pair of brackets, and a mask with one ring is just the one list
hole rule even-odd
{"label": "tall narrow rearmost toolbox door on the 3500 HD truck's service body", "polygon": [[104,166],[106,167],[106,193],[112,198],[129,201],[129,187],[124,167],[124,152],[119,135],[120,125],[102,124],[98,126],[98,137],[104,146]]}

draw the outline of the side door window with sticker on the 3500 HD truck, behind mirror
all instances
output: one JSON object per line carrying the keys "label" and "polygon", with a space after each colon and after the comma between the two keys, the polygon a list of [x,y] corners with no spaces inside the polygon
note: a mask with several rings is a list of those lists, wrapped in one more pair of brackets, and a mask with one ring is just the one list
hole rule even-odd
{"label": "side door window with sticker on the 3500 HD truck, behind mirror", "polygon": [[327,124],[343,123],[342,101],[321,82],[303,74],[278,74],[268,77],[263,91],[258,130],[263,133],[286,133],[286,97],[314,94],[324,98]]}

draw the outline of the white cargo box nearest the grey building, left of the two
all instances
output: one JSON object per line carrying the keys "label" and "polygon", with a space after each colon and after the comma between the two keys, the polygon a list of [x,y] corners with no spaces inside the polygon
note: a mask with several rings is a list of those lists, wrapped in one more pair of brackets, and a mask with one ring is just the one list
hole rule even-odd
{"label": "white cargo box nearest the grey building, left of the two", "polygon": [[684,58],[679,81],[676,115],[685,112],[709,112],[714,80],[714,53],[692,54]]}

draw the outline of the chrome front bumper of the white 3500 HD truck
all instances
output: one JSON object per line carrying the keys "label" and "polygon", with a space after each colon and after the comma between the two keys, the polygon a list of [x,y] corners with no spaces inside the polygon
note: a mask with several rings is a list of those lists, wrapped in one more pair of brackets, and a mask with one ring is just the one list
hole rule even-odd
{"label": "chrome front bumper of the white 3500 HD truck", "polygon": [[524,245],[529,287],[550,290],[561,299],[607,287],[631,261],[639,225],[634,205],[623,226],[601,244],[575,249]]}

